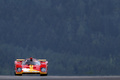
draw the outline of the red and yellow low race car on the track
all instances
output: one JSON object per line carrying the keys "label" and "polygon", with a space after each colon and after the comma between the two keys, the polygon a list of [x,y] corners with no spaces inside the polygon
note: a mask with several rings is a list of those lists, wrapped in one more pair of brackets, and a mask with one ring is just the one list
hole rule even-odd
{"label": "red and yellow low race car on the track", "polygon": [[40,76],[47,76],[48,61],[46,59],[16,59],[15,60],[15,75],[22,76],[22,74],[40,74]]}

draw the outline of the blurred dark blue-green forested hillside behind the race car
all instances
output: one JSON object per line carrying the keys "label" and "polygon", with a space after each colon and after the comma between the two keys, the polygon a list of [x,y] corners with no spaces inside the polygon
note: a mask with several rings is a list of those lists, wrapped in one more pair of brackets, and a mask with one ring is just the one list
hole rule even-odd
{"label": "blurred dark blue-green forested hillside behind the race car", "polygon": [[120,74],[120,0],[0,0],[0,74],[46,58],[49,75]]}

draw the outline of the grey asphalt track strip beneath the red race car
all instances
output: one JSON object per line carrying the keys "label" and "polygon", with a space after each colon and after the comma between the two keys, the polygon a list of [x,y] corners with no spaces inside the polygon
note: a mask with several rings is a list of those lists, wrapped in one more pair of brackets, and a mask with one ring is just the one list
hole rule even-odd
{"label": "grey asphalt track strip beneath the red race car", "polygon": [[120,76],[0,76],[0,80],[120,80]]}

